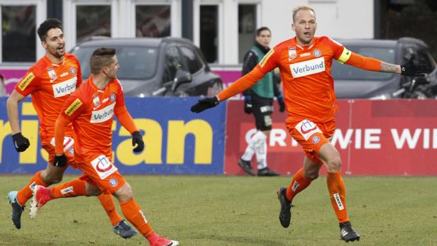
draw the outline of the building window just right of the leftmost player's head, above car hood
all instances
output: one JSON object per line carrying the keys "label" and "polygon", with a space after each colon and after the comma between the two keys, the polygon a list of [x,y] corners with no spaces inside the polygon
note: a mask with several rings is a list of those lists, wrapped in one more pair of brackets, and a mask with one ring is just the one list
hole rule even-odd
{"label": "building window just right of the leftmost player's head, above car hood", "polygon": [[78,5],[76,8],[76,43],[92,36],[111,37],[111,6]]}

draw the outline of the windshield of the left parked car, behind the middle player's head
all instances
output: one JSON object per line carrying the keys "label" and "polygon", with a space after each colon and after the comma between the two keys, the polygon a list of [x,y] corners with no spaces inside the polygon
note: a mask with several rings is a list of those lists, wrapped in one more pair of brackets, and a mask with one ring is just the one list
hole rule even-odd
{"label": "windshield of the left parked car, behind the middle player's head", "polygon": [[[89,57],[97,47],[76,47],[72,51],[79,59],[82,77],[88,78]],[[155,74],[157,49],[155,47],[115,47],[120,69],[118,79],[149,79]]]}

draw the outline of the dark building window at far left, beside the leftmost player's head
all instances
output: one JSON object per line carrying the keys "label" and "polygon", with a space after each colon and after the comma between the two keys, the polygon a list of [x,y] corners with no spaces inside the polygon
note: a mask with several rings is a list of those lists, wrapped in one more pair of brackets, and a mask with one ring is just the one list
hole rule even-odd
{"label": "dark building window at far left, beside the leftmost player's head", "polygon": [[1,61],[35,62],[36,6],[0,6]]}

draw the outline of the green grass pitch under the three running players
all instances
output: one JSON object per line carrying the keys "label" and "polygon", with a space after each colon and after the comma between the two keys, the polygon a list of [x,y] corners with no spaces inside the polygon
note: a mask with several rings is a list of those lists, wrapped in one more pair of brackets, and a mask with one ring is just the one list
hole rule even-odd
{"label": "green grass pitch under the three running players", "polygon": [[[148,245],[141,235],[123,240],[114,234],[94,197],[50,201],[33,220],[26,210],[16,230],[6,194],[29,178],[0,176],[0,245]],[[294,199],[287,229],[277,218],[275,192],[289,177],[126,179],[150,225],[181,245],[346,245],[324,177]],[[350,244],[437,245],[435,177],[346,177],[345,183],[349,217],[361,235],[360,242]]]}

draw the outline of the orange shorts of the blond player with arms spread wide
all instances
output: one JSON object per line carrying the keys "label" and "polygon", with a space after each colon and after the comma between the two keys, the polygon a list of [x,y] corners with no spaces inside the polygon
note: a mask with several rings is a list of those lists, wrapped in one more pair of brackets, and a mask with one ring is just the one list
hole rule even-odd
{"label": "orange shorts of the blond player with arms spread wide", "polygon": [[330,142],[336,130],[336,120],[325,123],[303,121],[287,121],[287,129],[292,138],[304,147],[306,157],[315,163],[322,164],[319,159],[320,147]]}

